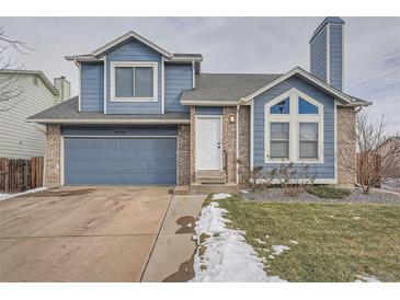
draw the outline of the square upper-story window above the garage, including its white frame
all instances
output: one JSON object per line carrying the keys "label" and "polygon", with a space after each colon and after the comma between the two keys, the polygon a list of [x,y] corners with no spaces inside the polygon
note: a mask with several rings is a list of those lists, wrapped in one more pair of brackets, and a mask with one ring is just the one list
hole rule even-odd
{"label": "square upper-story window above the garage, including its white frame", "polygon": [[112,62],[112,101],[157,101],[156,62]]}

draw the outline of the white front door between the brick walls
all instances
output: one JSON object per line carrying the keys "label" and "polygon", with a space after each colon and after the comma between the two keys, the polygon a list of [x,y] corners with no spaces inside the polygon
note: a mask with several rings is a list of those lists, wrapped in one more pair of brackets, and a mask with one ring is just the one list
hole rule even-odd
{"label": "white front door between the brick walls", "polygon": [[196,117],[196,170],[221,170],[221,117]]}

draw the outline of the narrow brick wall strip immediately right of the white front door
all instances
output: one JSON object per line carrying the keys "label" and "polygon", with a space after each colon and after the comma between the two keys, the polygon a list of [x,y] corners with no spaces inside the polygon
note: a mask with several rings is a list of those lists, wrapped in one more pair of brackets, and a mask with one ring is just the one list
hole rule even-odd
{"label": "narrow brick wall strip immediately right of the white front door", "polygon": [[[231,123],[230,118],[235,122]],[[228,155],[228,183],[236,182],[236,106],[224,106],[222,109],[222,150]]]}

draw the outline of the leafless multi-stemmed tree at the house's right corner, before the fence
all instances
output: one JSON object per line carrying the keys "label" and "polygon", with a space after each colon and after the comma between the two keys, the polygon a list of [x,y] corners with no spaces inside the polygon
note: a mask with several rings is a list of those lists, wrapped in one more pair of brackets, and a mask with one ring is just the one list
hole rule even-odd
{"label": "leafless multi-stemmed tree at the house's right corner, before the fence", "polygon": [[[355,134],[339,146],[338,159],[347,172],[357,176],[364,194],[368,194],[372,187],[389,180],[398,171],[400,143],[390,143],[385,147],[385,151],[381,148],[388,139],[387,124],[385,115],[374,120],[366,113],[359,114]],[[395,136],[399,137],[400,134]],[[354,150],[357,152],[356,158]]]}

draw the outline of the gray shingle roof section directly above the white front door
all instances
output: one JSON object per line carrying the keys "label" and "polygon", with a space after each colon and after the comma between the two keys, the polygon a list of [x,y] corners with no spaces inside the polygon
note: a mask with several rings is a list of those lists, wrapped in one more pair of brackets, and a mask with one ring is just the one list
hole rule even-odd
{"label": "gray shingle roof section directly above the white front door", "polygon": [[182,101],[239,101],[282,74],[203,73],[196,89],[184,91]]}

